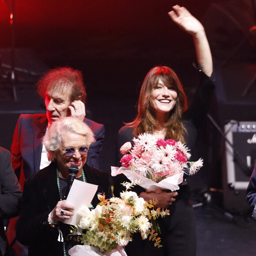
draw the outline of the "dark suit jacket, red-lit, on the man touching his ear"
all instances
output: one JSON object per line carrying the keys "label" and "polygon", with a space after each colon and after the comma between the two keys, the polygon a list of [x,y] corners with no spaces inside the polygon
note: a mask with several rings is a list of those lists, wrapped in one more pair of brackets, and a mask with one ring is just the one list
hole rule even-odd
{"label": "dark suit jacket, red-lit, on the man touching his ear", "polygon": [[[96,142],[93,143],[87,154],[87,164],[99,168],[99,157],[102,151],[105,128],[87,118],[84,122],[94,132]],[[41,162],[42,143],[48,120],[45,113],[20,115],[11,144],[11,163],[21,186],[23,182],[38,172]]]}

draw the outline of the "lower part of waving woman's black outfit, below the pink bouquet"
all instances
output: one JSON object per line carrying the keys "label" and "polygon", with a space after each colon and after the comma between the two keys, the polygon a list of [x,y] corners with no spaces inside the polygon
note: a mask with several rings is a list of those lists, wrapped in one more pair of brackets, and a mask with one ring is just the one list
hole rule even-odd
{"label": "lower part of waving woman's black outfit, below the pink bouquet", "polygon": [[189,203],[190,189],[184,185],[177,192],[176,202],[169,207],[170,215],[158,219],[162,247],[155,248],[154,242],[142,240],[137,233],[125,247],[128,256],[196,256],[196,221]]}

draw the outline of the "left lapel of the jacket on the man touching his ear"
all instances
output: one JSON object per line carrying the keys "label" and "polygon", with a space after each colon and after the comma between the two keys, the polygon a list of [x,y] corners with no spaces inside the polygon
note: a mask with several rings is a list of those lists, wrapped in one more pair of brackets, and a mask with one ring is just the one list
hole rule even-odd
{"label": "left lapel of the jacket on the man touching his ear", "polygon": [[48,120],[46,114],[36,120],[34,124],[34,171],[38,172],[40,169],[41,153],[42,153],[42,137],[45,135]]}

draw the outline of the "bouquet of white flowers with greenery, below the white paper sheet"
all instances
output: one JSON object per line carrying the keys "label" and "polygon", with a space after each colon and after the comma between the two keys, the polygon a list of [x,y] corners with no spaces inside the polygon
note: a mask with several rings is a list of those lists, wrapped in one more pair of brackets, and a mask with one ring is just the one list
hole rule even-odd
{"label": "bouquet of white flowers with greenery, below the white paper sheet", "polygon": [[[169,215],[169,210],[164,211],[160,208],[155,210],[156,201],[147,203],[135,192],[128,191],[133,185],[140,183],[141,181],[124,182],[126,191],[120,194],[120,198],[112,197],[106,200],[104,195],[98,195],[100,203],[95,209],[90,211],[88,207],[83,207],[79,210],[78,214],[82,218],[78,228],[83,230],[81,240],[84,245],[98,247],[98,250],[101,249],[103,253],[109,253],[113,252],[113,249],[127,245],[129,241],[132,241],[132,235],[139,232],[142,239],[150,235],[149,239],[154,241],[154,245],[161,246],[160,237],[157,237],[158,233],[150,229],[149,220]],[[70,253],[79,246],[73,247]],[[89,255],[93,255],[92,252]],[[108,254],[98,252],[98,255]]]}

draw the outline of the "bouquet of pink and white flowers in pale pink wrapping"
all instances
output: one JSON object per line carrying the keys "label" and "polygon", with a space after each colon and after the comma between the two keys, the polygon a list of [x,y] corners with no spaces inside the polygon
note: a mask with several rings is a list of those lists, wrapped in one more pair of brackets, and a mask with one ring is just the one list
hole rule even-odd
{"label": "bouquet of pink and white flowers in pale pink wrapping", "polygon": [[123,173],[128,179],[142,179],[141,187],[156,191],[160,189],[179,189],[178,184],[186,175],[195,174],[203,166],[200,158],[188,162],[191,154],[188,148],[174,139],[158,139],[150,133],[143,133],[133,138],[134,145],[125,143],[121,148],[124,156],[122,167],[111,167],[112,176]]}

